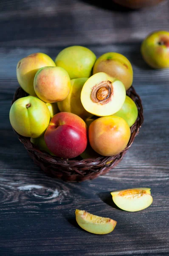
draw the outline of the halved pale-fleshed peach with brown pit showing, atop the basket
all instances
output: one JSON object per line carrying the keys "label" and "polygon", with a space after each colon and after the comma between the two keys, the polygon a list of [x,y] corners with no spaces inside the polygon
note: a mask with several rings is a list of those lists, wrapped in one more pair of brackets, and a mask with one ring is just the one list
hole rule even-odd
{"label": "halved pale-fleshed peach with brown pit showing, atop the basket", "polygon": [[113,115],[122,107],[125,98],[124,84],[103,72],[87,79],[81,92],[83,107],[96,116]]}

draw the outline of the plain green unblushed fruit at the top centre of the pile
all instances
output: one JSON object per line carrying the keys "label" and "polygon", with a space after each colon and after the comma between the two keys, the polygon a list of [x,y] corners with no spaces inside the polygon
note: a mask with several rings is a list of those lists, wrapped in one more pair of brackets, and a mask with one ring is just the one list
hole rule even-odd
{"label": "plain green unblushed fruit at the top centre of the pile", "polygon": [[96,55],[88,48],[70,46],[63,49],[55,59],[56,66],[68,71],[70,79],[90,77]]}

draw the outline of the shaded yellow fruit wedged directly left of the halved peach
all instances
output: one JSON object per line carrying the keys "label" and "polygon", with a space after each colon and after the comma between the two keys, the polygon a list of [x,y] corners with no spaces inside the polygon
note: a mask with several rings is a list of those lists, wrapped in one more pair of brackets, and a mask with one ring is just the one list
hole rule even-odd
{"label": "shaded yellow fruit wedged directly left of the halved peach", "polygon": [[57,103],[60,112],[70,112],[80,116],[82,119],[92,116],[91,113],[85,110],[80,99],[85,81],[87,81],[87,78],[76,78],[71,80],[71,89],[68,97]]}

